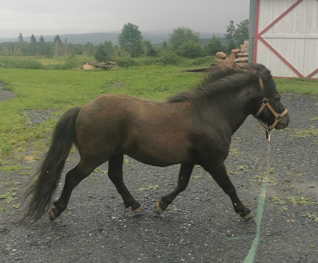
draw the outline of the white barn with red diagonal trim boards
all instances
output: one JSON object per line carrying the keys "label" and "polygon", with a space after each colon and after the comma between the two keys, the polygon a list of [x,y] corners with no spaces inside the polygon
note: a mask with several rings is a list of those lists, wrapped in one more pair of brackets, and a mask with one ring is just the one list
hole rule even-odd
{"label": "white barn with red diagonal trim boards", "polygon": [[250,0],[249,62],[318,78],[318,0]]}

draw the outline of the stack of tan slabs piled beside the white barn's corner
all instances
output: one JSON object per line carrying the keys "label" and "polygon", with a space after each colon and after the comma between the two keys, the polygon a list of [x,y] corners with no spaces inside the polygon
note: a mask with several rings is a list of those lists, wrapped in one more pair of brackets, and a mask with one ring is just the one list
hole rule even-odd
{"label": "stack of tan slabs piled beside the white barn's corner", "polygon": [[229,57],[223,52],[218,52],[215,54],[216,63],[229,63],[234,64],[244,64],[248,62],[248,40],[244,40],[244,44],[240,45],[239,49],[233,49]]}

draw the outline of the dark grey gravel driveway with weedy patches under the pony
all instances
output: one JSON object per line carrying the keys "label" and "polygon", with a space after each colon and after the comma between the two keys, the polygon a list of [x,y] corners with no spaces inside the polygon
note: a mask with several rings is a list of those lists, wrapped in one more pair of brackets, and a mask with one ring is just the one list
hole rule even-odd
{"label": "dark grey gravel driveway with weedy patches under the pony", "polygon": [[[317,263],[318,137],[311,127],[318,127],[318,100],[289,93],[282,97],[292,121],[287,130],[272,133],[271,179],[254,262]],[[34,122],[37,115],[43,116],[32,114]],[[230,198],[201,167],[195,167],[188,188],[157,215],[155,202],[174,188],[178,166],[152,167],[125,158],[126,186],[145,208],[142,214],[124,210],[104,164],[74,190],[67,210],[54,222],[45,214],[37,222],[18,223],[23,205],[14,208],[18,200],[5,201],[10,193],[23,194],[31,184],[24,168],[35,169],[37,162],[25,160],[18,171],[0,170],[0,207],[5,208],[0,212],[0,261],[244,261],[255,238],[256,221],[242,220]],[[77,153],[72,153],[65,170],[77,161]],[[265,161],[265,132],[248,117],[233,136],[226,165],[239,197],[254,213]]]}

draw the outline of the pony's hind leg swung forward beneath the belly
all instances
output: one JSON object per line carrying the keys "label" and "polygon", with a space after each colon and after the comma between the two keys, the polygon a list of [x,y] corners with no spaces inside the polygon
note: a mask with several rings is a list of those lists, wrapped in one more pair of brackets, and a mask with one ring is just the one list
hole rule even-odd
{"label": "pony's hind leg swung forward beneath the belly", "polygon": [[131,207],[133,212],[140,213],[144,208],[129,193],[123,180],[123,161],[124,154],[114,154],[108,160],[108,177],[115,185],[118,193],[124,200],[125,207]]}

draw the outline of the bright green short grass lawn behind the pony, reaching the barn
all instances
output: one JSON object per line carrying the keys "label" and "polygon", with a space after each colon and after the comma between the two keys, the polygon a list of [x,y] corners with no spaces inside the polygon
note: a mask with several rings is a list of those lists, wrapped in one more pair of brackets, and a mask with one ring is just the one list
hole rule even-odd
{"label": "bright green short grass lawn behind the pony, reaching the barn", "polygon": [[[111,71],[0,68],[0,82],[16,97],[0,102],[0,156],[35,157],[48,145],[57,118],[26,126],[26,110],[58,109],[57,117],[102,93],[125,93],[163,100],[194,86],[202,74],[180,72],[181,66],[134,66]],[[318,95],[318,81],[275,80],[280,92]],[[32,143],[31,143],[32,142]],[[36,142],[36,143],[33,143]],[[32,147],[30,146],[32,145]],[[5,165],[6,161],[0,161]]]}

